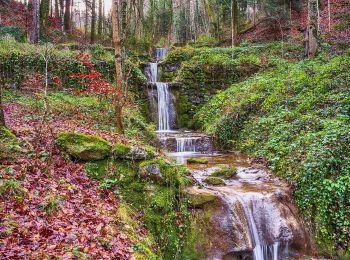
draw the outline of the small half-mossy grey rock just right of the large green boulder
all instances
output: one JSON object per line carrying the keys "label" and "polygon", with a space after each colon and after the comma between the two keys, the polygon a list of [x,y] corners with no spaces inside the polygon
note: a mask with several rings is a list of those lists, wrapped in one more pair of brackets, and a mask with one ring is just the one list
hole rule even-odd
{"label": "small half-mossy grey rock just right of the large green boulder", "polygon": [[113,154],[116,159],[126,160],[150,160],[156,156],[154,149],[150,147],[137,147],[125,144],[116,144],[113,149]]}

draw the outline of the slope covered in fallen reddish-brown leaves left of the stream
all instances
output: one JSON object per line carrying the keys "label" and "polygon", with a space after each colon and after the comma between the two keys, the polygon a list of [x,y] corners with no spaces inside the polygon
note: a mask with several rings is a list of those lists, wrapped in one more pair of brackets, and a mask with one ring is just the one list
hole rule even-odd
{"label": "slope covered in fallen reddish-brown leaves left of the stream", "polygon": [[[88,117],[52,109],[41,114],[22,101],[5,102],[8,128],[16,142],[2,158],[0,187],[0,258],[84,257],[130,259],[133,242],[118,219],[120,201],[89,179],[84,165],[64,158],[55,145],[59,131],[98,135],[125,142],[119,135],[98,131]],[[34,109],[33,109],[34,108]],[[10,146],[9,146],[10,147]],[[144,229],[138,230],[142,239]]]}

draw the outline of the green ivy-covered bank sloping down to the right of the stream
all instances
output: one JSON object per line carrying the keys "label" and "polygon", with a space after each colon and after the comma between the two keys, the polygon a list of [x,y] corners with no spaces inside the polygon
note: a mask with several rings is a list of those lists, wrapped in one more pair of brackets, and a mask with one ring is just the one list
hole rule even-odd
{"label": "green ivy-covered bank sloping down to the right of the stream", "polygon": [[196,114],[224,149],[267,161],[295,187],[321,254],[350,251],[350,55],[280,60]]}

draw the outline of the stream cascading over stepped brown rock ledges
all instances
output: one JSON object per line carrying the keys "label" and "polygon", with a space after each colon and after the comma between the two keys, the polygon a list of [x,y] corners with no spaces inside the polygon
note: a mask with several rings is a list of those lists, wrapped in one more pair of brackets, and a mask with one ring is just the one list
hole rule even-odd
{"label": "stream cascading over stepped brown rock ledges", "polygon": [[[169,84],[158,82],[158,63],[167,49],[156,49],[156,62],[145,74],[151,108],[158,118],[160,147],[178,164],[187,164],[198,185],[189,194],[211,194],[219,206],[209,221],[210,243],[203,245],[206,259],[304,259],[313,255],[313,245],[293,205],[290,187],[255,165],[240,153],[215,151],[211,137],[176,129],[174,97]],[[206,164],[187,163],[188,158],[205,158]],[[205,179],[225,167],[236,167],[233,178],[222,185],[209,185]]]}

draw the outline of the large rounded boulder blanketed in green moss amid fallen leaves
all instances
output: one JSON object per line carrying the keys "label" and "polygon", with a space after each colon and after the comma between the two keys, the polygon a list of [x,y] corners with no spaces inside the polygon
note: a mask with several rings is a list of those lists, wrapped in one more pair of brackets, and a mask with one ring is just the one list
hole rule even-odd
{"label": "large rounded boulder blanketed in green moss amid fallen leaves", "polygon": [[111,145],[93,135],[63,132],[58,134],[57,143],[70,156],[82,161],[103,160],[111,153]]}

